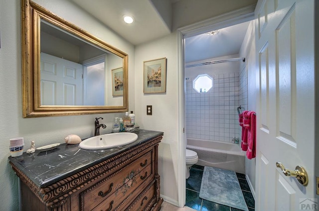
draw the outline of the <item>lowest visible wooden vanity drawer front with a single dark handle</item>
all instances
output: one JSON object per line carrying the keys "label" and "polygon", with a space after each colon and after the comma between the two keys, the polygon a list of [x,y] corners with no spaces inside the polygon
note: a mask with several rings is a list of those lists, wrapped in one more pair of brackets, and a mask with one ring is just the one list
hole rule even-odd
{"label": "lowest visible wooden vanity drawer front with a single dark handle", "polygon": [[[144,211],[152,199],[155,200],[156,187],[154,181],[139,195],[139,197],[125,209],[126,211]],[[153,201],[154,201],[153,200]]]}

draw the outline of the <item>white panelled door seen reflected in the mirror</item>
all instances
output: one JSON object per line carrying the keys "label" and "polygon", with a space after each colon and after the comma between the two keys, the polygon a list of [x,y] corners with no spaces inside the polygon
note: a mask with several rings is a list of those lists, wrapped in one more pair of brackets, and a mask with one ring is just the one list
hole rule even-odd
{"label": "white panelled door seen reflected in the mirror", "polygon": [[41,53],[41,105],[83,105],[83,67]]}

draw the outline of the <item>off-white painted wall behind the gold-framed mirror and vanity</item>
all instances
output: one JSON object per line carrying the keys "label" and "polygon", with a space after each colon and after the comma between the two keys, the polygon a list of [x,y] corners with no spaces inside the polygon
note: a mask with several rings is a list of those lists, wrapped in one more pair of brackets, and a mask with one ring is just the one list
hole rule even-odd
{"label": "off-white painted wall behind the gold-framed mirror and vanity", "polygon": [[[35,0],[35,2],[129,55],[129,110],[135,110],[134,46],[69,1]],[[26,148],[32,140],[35,141],[36,147],[55,142],[63,143],[64,137],[69,134],[77,134],[81,138],[93,136],[95,117],[104,118],[101,123],[106,124],[107,129],[101,129],[101,134],[105,134],[111,132],[114,117],[124,116],[124,113],[115,113],[22,118],[20,7],[20,0],[0,1],[1,211],[18,210],[18,180],[7,159],[10,155],[8,150],[10,138],[24,137]]]}

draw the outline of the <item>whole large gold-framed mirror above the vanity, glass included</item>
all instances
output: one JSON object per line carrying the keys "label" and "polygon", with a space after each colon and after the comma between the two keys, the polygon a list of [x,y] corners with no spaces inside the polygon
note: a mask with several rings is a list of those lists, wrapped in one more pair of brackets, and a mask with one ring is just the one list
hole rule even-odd
{"label": "whole large gold-framed mirror above the vanity, glass included", "polygon": [[21,3],[23,118],[128,111],[128,55]]}

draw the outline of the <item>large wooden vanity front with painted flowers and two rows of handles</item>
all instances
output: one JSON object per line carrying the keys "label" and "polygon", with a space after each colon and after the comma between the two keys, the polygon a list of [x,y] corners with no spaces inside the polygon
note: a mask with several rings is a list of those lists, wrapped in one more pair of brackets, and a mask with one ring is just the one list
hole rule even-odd
{"label": "large wooden vanity front with painted flowers and two rows of handles", "polygon": [[91,211],[103,201],[105,201],[102,203],[103,209],[98,211],[117,207],[145,180],[150,176],[154,177],[152,158],[152,151],[150,151],[82,192],[80,194],[81,211]]}

